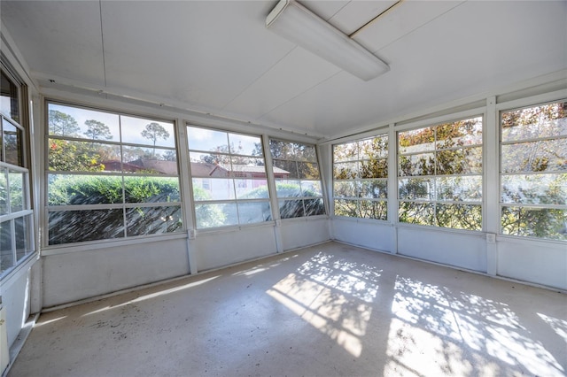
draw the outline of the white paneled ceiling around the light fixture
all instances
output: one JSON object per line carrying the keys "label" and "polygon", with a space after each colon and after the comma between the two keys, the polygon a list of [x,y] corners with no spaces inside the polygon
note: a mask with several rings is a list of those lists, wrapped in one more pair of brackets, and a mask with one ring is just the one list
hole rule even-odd
{"label": "white paneled ceiling around the light fixture", "polygon": [[[301,3],[349,35],[395,1]],[[391,67],[371,81],[266,29],[276,0],[0,4],[42,87],[327,138],[567,68],[565,1],[403,1],[353,35]]]}

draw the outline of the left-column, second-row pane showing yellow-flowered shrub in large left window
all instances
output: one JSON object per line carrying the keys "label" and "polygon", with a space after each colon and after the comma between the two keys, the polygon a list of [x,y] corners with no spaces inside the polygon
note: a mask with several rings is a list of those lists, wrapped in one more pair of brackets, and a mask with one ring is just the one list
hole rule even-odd
{"label": "left-column, second-row pane showing yellow-flowered shrub in large left window", "polygon": [[100,142],[50,139],[51,172],[120,172],[120,147]]}

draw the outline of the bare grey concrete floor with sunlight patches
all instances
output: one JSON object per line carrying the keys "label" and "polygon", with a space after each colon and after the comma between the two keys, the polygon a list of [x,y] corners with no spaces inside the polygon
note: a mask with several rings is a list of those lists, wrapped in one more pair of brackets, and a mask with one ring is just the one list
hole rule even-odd
{"label": "bare grey concrete floor with sunlight patches", "polygon": [[44,313],[9,376],[563,376],[567,295],[339,243]]}

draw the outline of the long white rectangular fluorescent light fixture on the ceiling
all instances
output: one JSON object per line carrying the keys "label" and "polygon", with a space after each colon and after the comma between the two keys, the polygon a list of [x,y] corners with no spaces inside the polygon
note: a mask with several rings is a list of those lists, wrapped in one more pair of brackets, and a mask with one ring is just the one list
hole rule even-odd
{"label": "long white rectangular fluorescent light fixture on the ceiling", "polygon": [[364,81],[390,70],[382,60],[295,0],[280,0],[266,27]]}

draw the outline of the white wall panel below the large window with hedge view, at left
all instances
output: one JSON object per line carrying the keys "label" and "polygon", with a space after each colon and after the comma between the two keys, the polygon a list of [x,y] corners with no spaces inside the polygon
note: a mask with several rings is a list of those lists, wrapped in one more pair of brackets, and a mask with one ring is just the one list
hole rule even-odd
{"label": "white wall panel below the large window with hedge view, at left", "polygon": [[189,273],[185,238],[51,249],[43,256],[43,307],[72,303]]}

